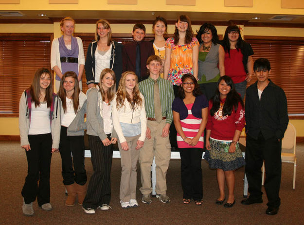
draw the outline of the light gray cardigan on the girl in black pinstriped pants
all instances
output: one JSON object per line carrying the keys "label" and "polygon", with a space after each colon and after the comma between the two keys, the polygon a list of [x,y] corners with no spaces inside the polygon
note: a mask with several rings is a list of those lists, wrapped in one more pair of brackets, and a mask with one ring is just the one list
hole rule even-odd
{"label": "light gray cardigan on the girl in black pinstriped pants", "polygon": [[[112,112],[112,101],[111,101]],[[100,101],[99,86],[92,87],[87,91],[87,134],[98,136],[100,140],[105,140],[107,134],[104,131],[104,120],[101,116],[103,111],[103,104]],[[111,137],[117,137],[116,131],[112,129]]]}

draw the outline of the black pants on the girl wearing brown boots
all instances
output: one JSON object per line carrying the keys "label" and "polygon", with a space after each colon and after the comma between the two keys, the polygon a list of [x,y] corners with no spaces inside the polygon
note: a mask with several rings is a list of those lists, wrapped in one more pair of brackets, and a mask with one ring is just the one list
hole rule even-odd
{"label": "black pants on the girl wearing brown boots", "polygon": [[87,182],[84,136],[67,136],[67,127],[61,126],[59,152],[63,184],[71,185],[76,182],[84,185]]}

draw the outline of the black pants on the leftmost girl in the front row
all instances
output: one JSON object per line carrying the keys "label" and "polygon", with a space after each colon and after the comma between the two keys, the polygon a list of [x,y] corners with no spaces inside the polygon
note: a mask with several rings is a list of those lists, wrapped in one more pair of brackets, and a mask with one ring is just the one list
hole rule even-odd
{"label": "black pants on the leftmost girl in the front row", "polygon": [[28,135],[28,138],[31,150],[25,151],[28,167],[21,194],[26,204],[34,202],[37,197],[38,206],[42,206],[50,202],[52,135]]}

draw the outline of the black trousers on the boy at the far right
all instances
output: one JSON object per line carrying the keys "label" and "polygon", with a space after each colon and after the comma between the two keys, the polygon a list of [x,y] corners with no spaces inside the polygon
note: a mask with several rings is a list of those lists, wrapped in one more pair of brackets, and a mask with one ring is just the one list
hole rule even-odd
{"label": "black trousers on the boy at the far right", "polygon": [[266,180],[264,183],[268,197],[267,205],[279,207],[281,172],[282,172],[282,141],[276,137],[265,140],[260,132],[255,140],[247,135],[246,138],[246,166],[245,173],[248,179],[250,197],[260,199],[262,197],[262,171],[263,160],[265,161]]}

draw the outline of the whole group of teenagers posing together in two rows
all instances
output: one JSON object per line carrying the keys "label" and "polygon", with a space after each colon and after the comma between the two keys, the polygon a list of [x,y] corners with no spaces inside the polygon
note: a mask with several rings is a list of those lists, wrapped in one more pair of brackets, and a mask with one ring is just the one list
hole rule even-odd
{"label": "whole group of teenagers posing together in two rows", "polygon": [[[152,202],[151,165],[156,163],[156,197],[170,202],[166,173],[171,148],[181,158],[182,203],[203,204],[201,159],[216,169],[218,205],[235,203],[234,171],[245,166],[250,196],[242,204],[262,203],[261,167],[265,161],[268,215],[280,206],[281,141],[288,124],[284,91],[268,79],[270,63],[257,59],[236,25],[219,41],[214,25],[197,31],[190,18],[178,17],[173,37],[165,39],[167,21],[153,21],[155,38],[143,41],[145,27],[135,24],[133,41],[112,40],[110,24],[96,23],[95,40],[86,59],[82,41],[73,37],[74,20],[60,23],[63,35],[52,43],[51,67],[36,71],[32,85],[21,95],[19,130],[28,161],[22,189],[24,215],[34,215],[33,202],[43,210],[50,204],[52,153],[62,159],[66,206],[82,205],[84,212],[107,210],[111,199],[113,145],[121,156],[120,204],[137,207],[137,163],[141,171],[141,201]],[[89,90],[82,90],[86,71]],[[247,81],[256,76],[249,88]],[[54,86],[57,94],[54,94]],[[243,98],[246,94],[246,104]],[[246,109],[246,113],[245,113]],[[86,122],[85,122],[86,112]],[[246,157],[238,143],[246,119]],[[93,175],[87,182],[84,130],[89,139]],[[225,195],[225,182],[228,196]],[[225,203],[224,203],[225,202]]]}

